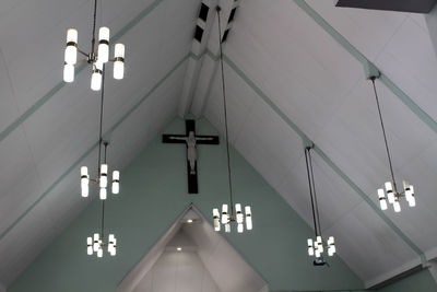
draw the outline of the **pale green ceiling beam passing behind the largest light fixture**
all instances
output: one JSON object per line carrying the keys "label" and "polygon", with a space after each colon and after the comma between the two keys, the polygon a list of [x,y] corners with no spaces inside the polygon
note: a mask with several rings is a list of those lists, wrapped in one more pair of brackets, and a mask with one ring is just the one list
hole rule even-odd
{"label": "pale green ceiling beam passing behind the largest light fixture", "polygon": [[[141,22],[145,16],[147,16],[161,2],[164,0],[155,0],[152,4],[143,9],[135,17],[133,17],[128,24],[126,24],[120,31],[118,31],[111,38],[111,42],[117,42],[127,32],[129,32],[133,26]],[[78,67],[76,74],[79,74],[83,69],[87,67],[83,63]],[[2,132],[0,132],[0,142],[2,142],[12,131],[14,131],[20,125],[22,125],[27,118],[29,118],[36,110],[38,110],[43,105],[50,101],[56,93],[58,93],[66,82],[60,81],[51,90],[49,90],[43,97],[40,97],[35,104],[27,108],[20,117],[17,117],[12,124],[10,124]]]}

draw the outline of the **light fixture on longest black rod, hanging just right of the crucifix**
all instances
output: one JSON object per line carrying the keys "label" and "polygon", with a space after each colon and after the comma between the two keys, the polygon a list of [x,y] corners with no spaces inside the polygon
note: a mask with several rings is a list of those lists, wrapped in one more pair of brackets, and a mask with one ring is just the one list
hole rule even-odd
{"label": "light fixture on longest black rod, hanging just right of the crucifix", "polygon": [[[237,232],[243,233],[246,230],[252,230],[252,212],[250,206],[245,207],[245,212],[243,213],[243,208],[240,203],[236,203],[234,207],[233,188],[232,188],[232,175],[231,175],[231,156],[229,156],[229,139],[227,131],[227,110],[226,110],[226,90],[225,90],[225,77],[223,70],[223,49],[222,49],[222,28],[220,19],[220,7],[216,9],[218,19],[218,45],[220,45],[220,63],[222,70],[222,90],[223,90],[223,109],[225,116],[225,132],[226,132],[226,155],[227,155],[227,177],[229,186],[229,206],[224,203],[222,206],[222,213],[220,213],[218,208],[212,210],[214,220],[214,230],[220,231],[221,225],[224,225],[226,233],[231,233],[231,224],[237,224]],[[231,208],[229,208],[231,207]]]}

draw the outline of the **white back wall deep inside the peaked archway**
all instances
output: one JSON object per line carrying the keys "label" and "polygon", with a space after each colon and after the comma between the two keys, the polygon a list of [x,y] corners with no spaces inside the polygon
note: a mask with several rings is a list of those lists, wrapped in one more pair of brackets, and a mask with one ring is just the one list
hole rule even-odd
{"label": "white back wall deep inside the peaked archway", "polygon": [[134,292],[220,292],[197,253],[164,252]]}

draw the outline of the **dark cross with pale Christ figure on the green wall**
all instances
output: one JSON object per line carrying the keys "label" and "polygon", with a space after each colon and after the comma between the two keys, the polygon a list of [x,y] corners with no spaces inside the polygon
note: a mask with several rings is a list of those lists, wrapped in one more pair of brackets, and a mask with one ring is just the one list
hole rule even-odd
{"label": "dark cross with pale Christ figure on the green wall", "polygon": [[163,143],[185,143],[187,147],[188,194],[198,194],[198,144],[218,144],[218,136],[197,136],[196,121],[185,121],[186,135],[163,135]]}

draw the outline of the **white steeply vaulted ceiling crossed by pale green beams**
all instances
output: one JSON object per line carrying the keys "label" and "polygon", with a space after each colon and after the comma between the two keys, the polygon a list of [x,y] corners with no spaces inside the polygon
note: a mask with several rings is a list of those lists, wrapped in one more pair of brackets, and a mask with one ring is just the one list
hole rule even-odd
{"label": "white steeply vaulted ceiling crossed by pale green beams", "polygon": [[[105,89],[110,167],[129,164],[177,115],[204,116],[224,132],[216,19],[210,10],[199,21],[200,3],[103,1],[97,25],[127,46],[125,79],[108,78]],[[323,233],[335,236],[340,256],[367,285],[418,265],[422,254],[435,258],[437,59],[425,17],[317,0],[221,5],[225,20],[239,7],[224,47],[232,144],[310,223],[302,138],[316,143]],[[91,0],[2,1],[0,24],[0,282],[7,287],[86,205],[78,172],[96,163],[98,94],[90,90],[88,70],[71,84],[61,78],[66,30],[78,28],[80,46],[88,46]],[[204,28],[201,43],[192,39],[197,24]],[[395,175],[416,189],[417,206],[400,214],[375,209],[389,170],[356,51],[413,102],[377,81]]]}

